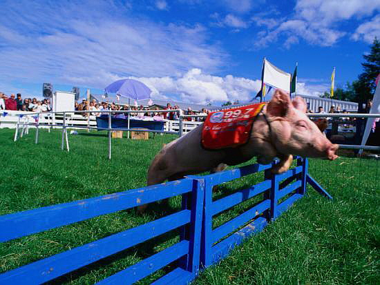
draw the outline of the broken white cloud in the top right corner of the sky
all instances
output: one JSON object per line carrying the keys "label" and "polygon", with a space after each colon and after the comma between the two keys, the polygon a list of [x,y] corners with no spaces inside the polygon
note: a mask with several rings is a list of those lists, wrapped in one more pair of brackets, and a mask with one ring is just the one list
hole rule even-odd
{"label": "broken white cloud in the top right corner of the sky", "polygon": [[[280,23],[269,18],[266,24],[260,18],[253,18],[258,26],[267,26],[267,30],[258,33],[259,39],[255,45],[267,46],[285,37],[285,48],[298,43],[299,39],[317,46],[332,46],[347,34],[339,28],[342,21],[363,19],[377,10],[380,10],[380,1],[347,0],[342,3],[341,0],[298,0],[294,16]],[[352,39],[370,41],[376,33],[379,33],[377,17],[359,26]]]}

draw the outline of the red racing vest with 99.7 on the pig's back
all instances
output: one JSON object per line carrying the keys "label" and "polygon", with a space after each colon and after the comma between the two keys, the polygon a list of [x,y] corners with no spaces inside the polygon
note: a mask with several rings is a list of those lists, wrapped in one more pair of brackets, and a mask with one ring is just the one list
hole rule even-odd
{"label": "red racing vest with 99.7 on the pig's back", "polygon": [[254,119],[267,103],[211,112],[202,128],[202,146],[209,150],[247,143]]}

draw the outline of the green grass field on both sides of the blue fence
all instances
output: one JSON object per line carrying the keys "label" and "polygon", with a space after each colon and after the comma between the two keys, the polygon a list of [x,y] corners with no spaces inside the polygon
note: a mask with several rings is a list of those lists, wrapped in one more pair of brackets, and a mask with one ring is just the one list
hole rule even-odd
{"label": "green grass field on both sides of the blue fence", "polygon": [[[17,142],[14,130],[0,130],[0,215],[145,186],[146,170],[162,144],[174,136],[149,141],[113,139],[108,161],[105,133],[70,135],[70,153],[60,150],[60,132],[34,131]],[[250,162],[254,162],[250,161]],[[311,175],[334,200],[310,190],[306,197],[231,255],[204,271],[193,284],[379,284],[380,161],[341,157],[310,161]],[[230,182],[214,193],[221,197],[262,179],[255,174]],[[218,226],[249,207],[246,202],[214,219]],[[0,244],[0,272],[144,224],[180,208],[151,206],[95,217]],[[52,284],[93,284],[178,241],[175,230]],[[146,277],[149,284],[170,268]]]}

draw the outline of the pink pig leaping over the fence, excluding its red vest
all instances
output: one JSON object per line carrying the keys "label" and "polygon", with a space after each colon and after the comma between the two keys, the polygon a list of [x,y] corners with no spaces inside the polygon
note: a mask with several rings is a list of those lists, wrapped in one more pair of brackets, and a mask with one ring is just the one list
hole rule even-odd
{"label": "pink pig leaping over the fence, excluding its red vest", "polygon": [[[336,159],[338,145],[332,144],[306,115],[301,97],[293,101],[283,90],[276,90],[252,126],[247,144],[235,148],[206,150],[201,146],[202,125],[187,135],[171,141],[155,156],[148,170],[147,184],[159,184],[205,171],[220,171],[257,157],[269,164],[275,157],[279,163],[273,173],[283,173],[292,164],[292,155]],[[146,205],[140,206],[143,210]]]}

